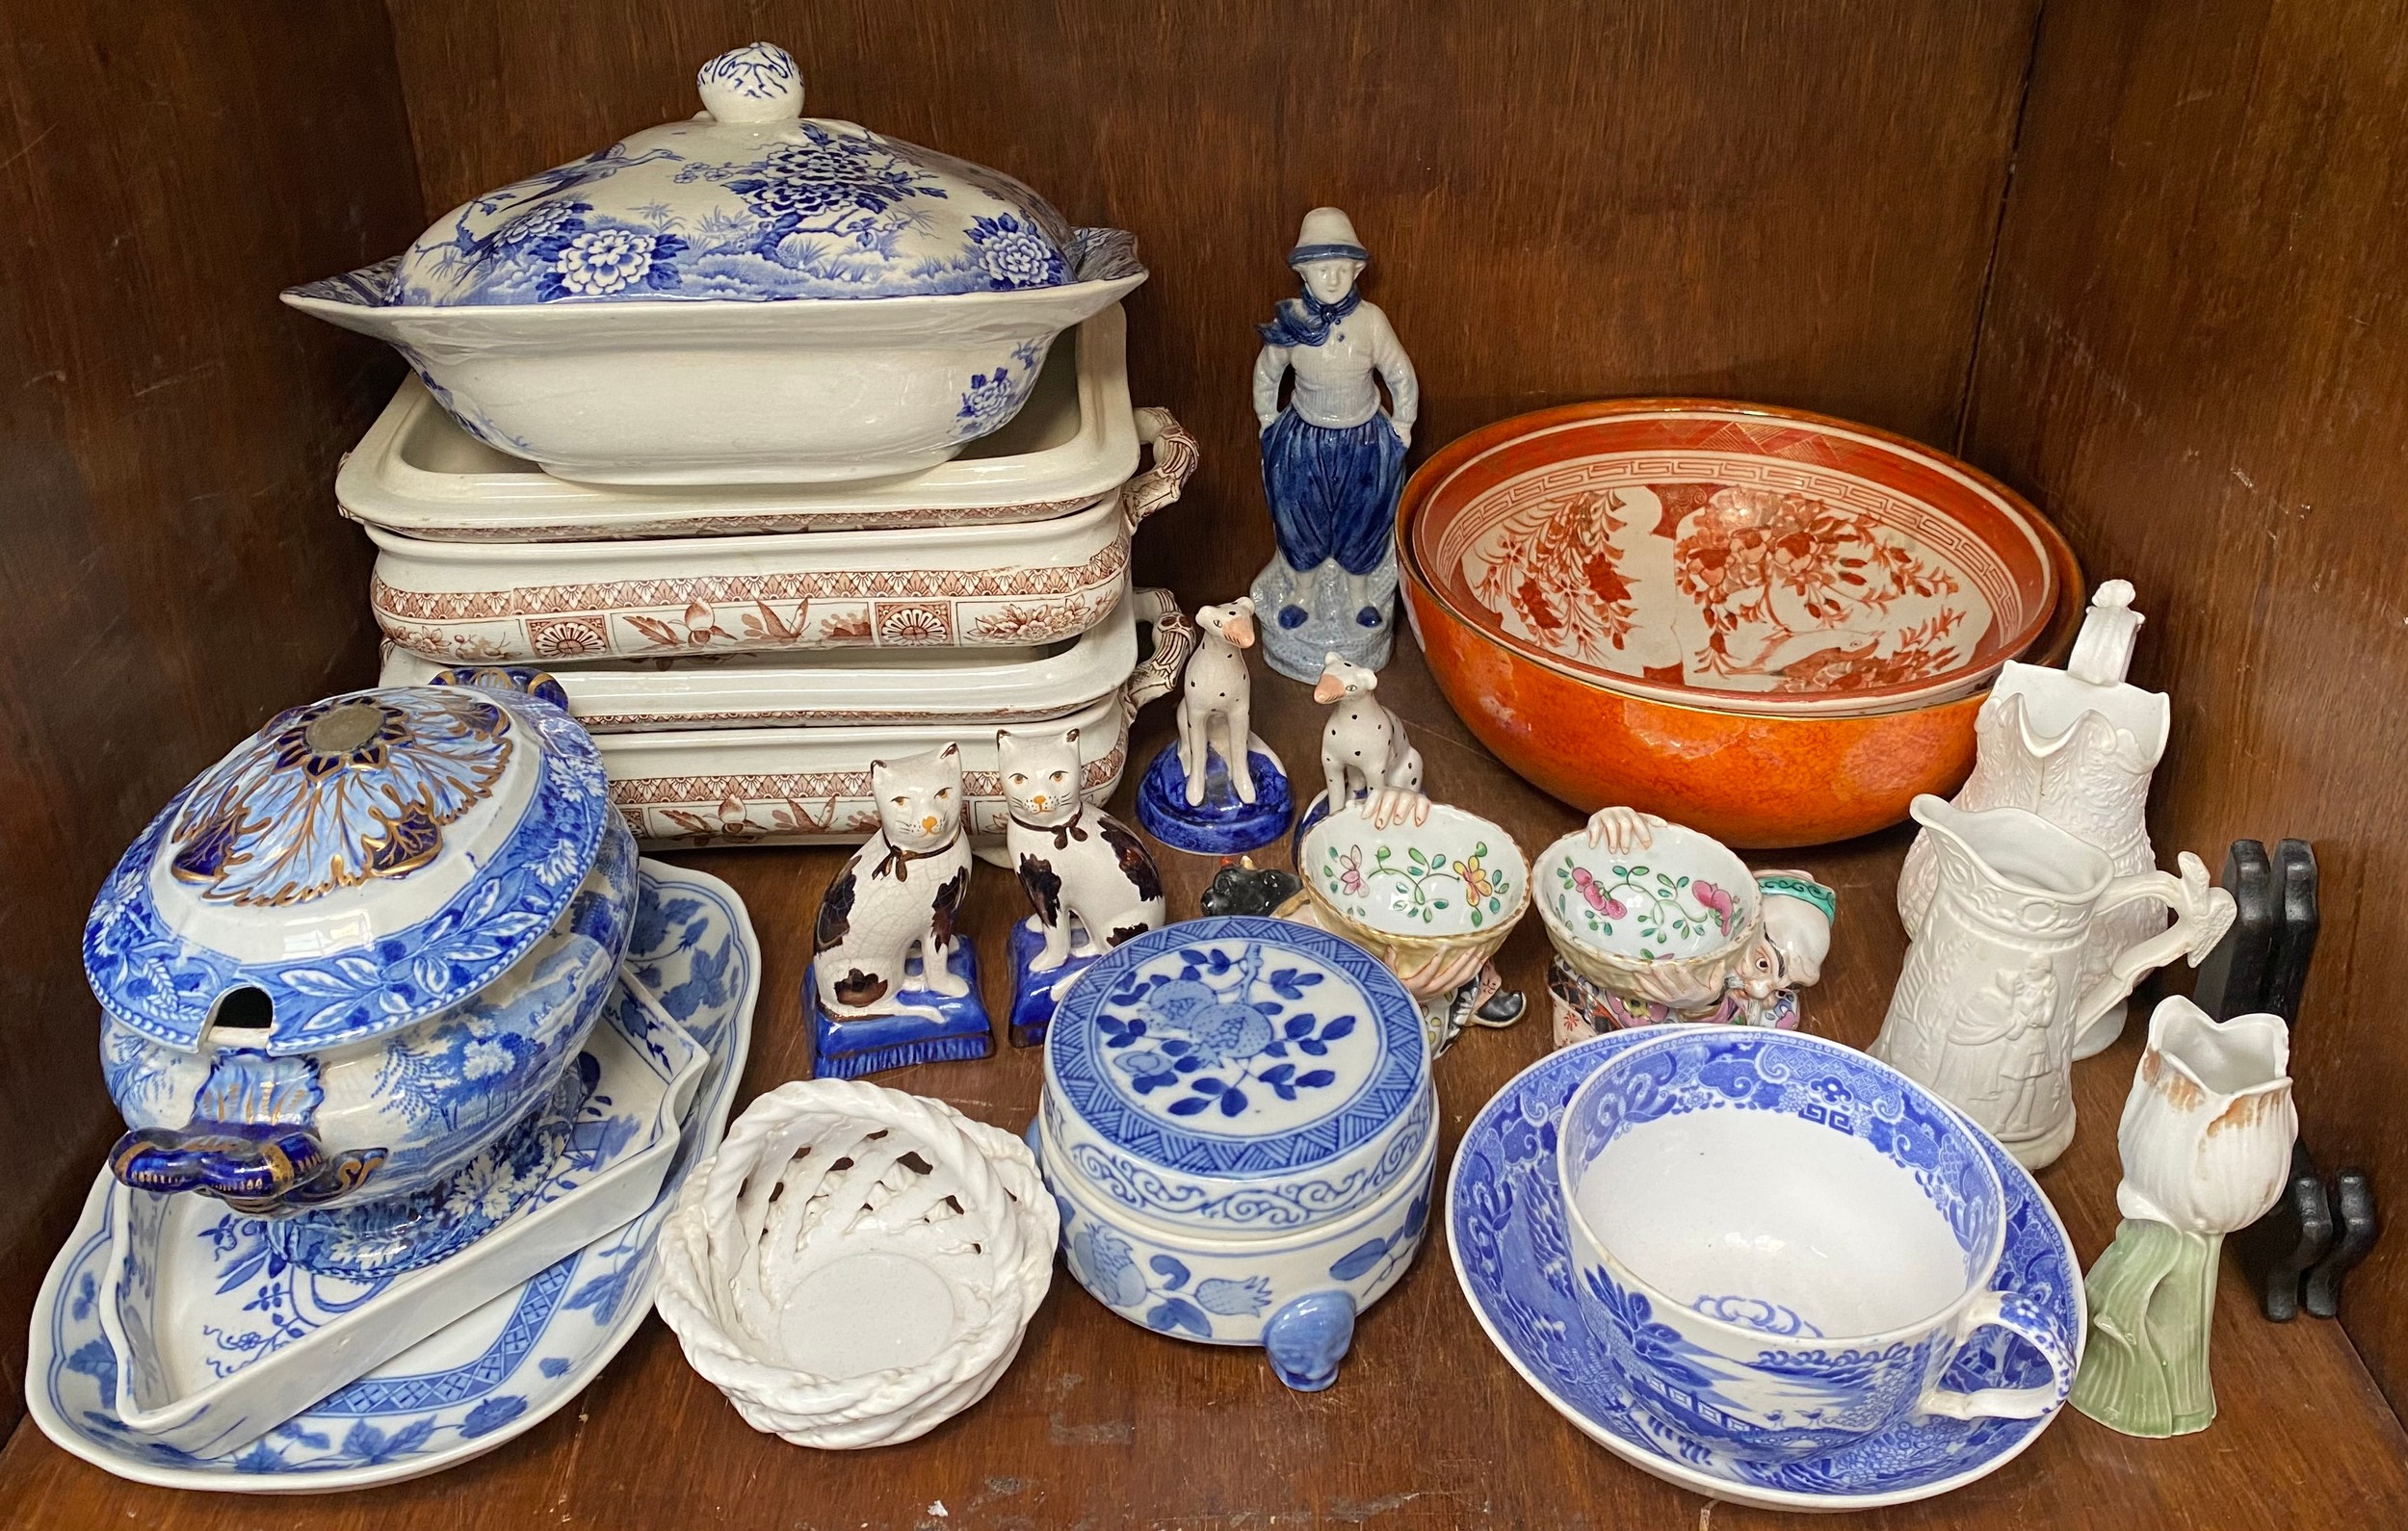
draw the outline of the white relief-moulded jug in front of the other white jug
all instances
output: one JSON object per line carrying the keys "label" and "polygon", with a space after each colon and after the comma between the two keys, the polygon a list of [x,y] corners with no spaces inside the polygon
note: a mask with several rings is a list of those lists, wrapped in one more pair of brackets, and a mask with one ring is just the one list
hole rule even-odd
{"label": "white relief-moulded jug in front of the other white jug", "polygon": [[[2232,924],[2232,895],[2182,852],[2182,876],[2117,876],[2105,850],[2028,809],[1970,814],[1917,797],[1914,821],[1938,886],[1907,927],[1907,965],[1873,1057],[1943,1095],[2030,1170],[2073,1141],[2073,1038],[2177,956],[2194,965]],[[2158,905],[2174,924],[2109,953],[2083,953],[2109,910]]]}

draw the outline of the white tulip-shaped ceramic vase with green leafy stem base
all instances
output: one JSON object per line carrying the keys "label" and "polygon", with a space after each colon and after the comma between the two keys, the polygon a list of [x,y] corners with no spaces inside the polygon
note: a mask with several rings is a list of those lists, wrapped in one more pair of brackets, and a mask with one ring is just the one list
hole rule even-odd
{"label": "white tulip-shaped ceramic vase with green leafy stem base", "polygon": [[2090,1266],[2090,1350],[2073,1382],[2073,1406],[2109,1430],[2189,1435],[2215,1420],[2215,1257],[2283,1194],[2300,1134],[2288,1069],[2280,1016],[2211,1021],[2170,997],[2148,1018],[2117,1129],[2124,1223]]}

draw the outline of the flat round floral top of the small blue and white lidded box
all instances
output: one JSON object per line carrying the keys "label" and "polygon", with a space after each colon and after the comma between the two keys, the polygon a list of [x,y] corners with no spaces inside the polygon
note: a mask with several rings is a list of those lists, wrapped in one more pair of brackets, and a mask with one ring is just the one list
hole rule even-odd
{"label": "flat round floral top of the small blue and white lidded box", "polygon": [[1428,1088],[1421,1009],[1375,956],[1245,915],[1098,958],[1055,1011],[1045,1071],[1050,1103],[1112,1148],[1250,1182],[1370,1146]]}

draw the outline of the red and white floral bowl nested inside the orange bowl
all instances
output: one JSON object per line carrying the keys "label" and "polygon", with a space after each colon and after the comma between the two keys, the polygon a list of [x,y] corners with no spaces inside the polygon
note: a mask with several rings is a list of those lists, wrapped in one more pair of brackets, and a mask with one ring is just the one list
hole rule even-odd
{"label": "red and white floral bowl nested inside the orange bowl", "polygon": [[1970,696],[2056,607],[2040,513],[1869,426],[1611,400],[1447,443],[1399,537],[1430,592],[1623,696],[1845,717]]}

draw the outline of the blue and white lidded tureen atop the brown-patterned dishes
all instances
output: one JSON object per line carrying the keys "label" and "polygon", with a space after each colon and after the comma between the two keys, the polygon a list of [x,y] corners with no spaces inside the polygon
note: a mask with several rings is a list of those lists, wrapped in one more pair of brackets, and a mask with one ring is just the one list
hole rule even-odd
{"label": "blue and white lidded tureen atop the brown-patterned dishes", "polygon": [[284,298],[402,351],[486,445],[595,484],[905,474],[1002,428],[1052,339],[1146,279],[1019,181],[802,116],[751,43],[706,111],[443,214]]}

